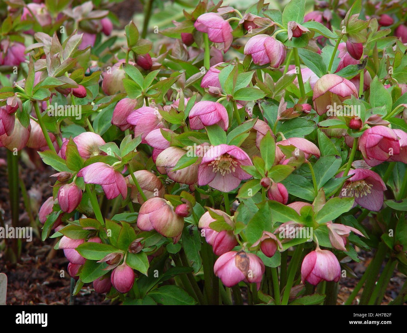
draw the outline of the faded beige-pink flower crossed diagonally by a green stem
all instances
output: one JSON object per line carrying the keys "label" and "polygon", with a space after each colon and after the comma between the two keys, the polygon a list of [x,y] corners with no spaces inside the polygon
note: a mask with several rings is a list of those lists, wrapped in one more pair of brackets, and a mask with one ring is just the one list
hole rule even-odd
{"label": "faded beige-pink flower crossed diagonally by a green stem", "polygon": [[[162,184],[161,180],[156,175],[154,175],[154,173],[151,173],[147,170],[138,170],[134,173],[134,177],[136,177],[136,180],[147,199],[153,197],[164,197],[164,185]],[[125,180],[126,184],[128,184],[128,186],[131,188],[131,201],[138,202],[139,204],[144,204],[144,200],[141,194],[138,192],[136,184],[134,184],[131,175],[125,177]]]}

